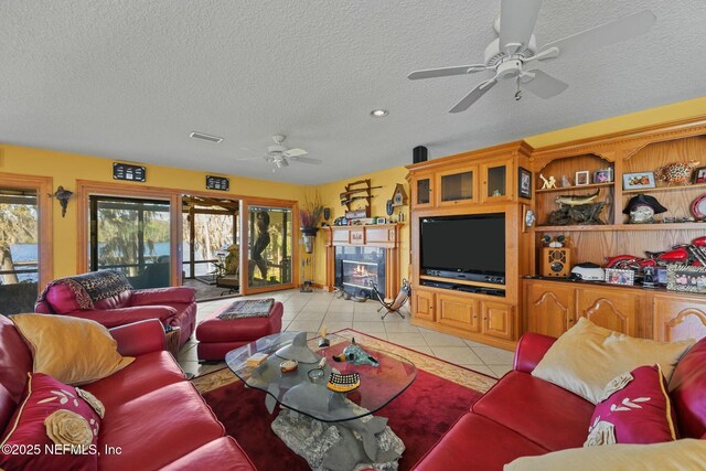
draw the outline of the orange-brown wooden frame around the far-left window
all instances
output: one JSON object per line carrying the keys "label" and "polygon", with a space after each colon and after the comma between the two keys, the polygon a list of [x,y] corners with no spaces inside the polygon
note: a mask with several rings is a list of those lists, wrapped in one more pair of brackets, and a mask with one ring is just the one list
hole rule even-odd
{"label": "orange-brown wooden frame around the far-left window", "polygon": [[50,194],[54,179],[51,176],[21,175],[15,173],[0,173],[0,186],[36,190],[36,206],[39,212],[39,289],[42,290],[54,279],[54,226],[53,205]]}

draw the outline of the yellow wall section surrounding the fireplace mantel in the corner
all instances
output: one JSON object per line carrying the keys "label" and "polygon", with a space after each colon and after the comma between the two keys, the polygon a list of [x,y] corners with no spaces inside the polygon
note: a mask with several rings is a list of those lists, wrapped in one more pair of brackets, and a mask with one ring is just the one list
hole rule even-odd
{"label": "yellow wall section surrounding the fireplace mantel in the corner", "polygon": [[[395,186],[397,183],[402,183],[405,186],[405,193],[409,196],[409,186],[405,180],[407,176],[407,169],[404,167],[395,167],[379,172],[366,173],[364,175],[352,176],[350,179],[341,180],[338,182],[325,183],[315,186],[314,190],[321,195],[321,202],[324,206],[331,208],[331,218],[329,224],[333,224],[333,220],[343,216],[345,214],[345,206],[341,206],[340,195],[345,191],[347,183],[355,182],[357,180],[371,179],[371,186],[383,186],[375,189],[371,193],[374,197],[371,200],[371,216],[388,217],[385,211],[385,204],[387,200],[393,197]],[[311,193],[310,193],[311,194]],[[351,208],[357,208],[356,203],[353,203]],[[365,204],[364,202],[362,204]],[[399,234],[399,253],[400,253],[400,274],[404,278],[409,278],[409,204],[396,207],[393,217],[399,218],[399,210],[405,214],[405,222],[402,226]],[[314,282],[323,285],[325,282],[325,248],[323,245],[323,237],[317,237],[315,240],[315,271]],[[387,293],[387,296],[395,296],[395,293]]]}

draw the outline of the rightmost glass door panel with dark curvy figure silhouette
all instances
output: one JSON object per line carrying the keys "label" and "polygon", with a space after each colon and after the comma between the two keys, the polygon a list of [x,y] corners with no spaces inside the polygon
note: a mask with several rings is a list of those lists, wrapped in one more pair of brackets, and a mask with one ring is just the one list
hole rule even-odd
{"label": "rightmost glass door panel with dark curvy figure silhouette", "polygon": [[248,287],[291,282],[292,212],[288,207],[249,206]]}

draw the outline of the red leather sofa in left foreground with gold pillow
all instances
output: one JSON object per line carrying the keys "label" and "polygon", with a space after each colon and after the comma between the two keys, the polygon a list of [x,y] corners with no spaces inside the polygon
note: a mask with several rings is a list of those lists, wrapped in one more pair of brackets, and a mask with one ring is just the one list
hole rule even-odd
{"label": "red leather sofa in left foreground with gold pillow", "polygon": [[[132,323],[111,329],[110,334],[120,354],[136,360],[82,386],[105,405],[99,447],[120,447],[120,453],[100,454],[98,469],[255,470],[164,351],[164,330],[159,322]],[[31,370],[32,353],[14,324],[0,315],[0,430],[7,429],[19,407]]]}

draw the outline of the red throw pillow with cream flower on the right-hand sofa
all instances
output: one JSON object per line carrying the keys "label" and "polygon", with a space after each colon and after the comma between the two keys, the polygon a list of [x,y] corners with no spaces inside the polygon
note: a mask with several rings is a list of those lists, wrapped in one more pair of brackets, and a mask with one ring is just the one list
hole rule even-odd
{"label": "red throw pillow with cream flower on the right-hand sofa", "polygon": [[660,443],[676,438],[676,417],[660,366],[640,366],[608,383],[584,447]]}

